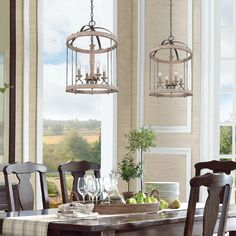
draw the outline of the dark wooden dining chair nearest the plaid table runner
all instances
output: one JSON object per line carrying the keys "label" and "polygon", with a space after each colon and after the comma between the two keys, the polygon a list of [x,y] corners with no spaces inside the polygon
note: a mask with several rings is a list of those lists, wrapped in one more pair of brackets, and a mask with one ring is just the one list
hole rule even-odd
{"label": "dark wooden dining chair nearest the plaid table runner", "polygon": [[[48,188],[46,181],[47,167],[41,164],[25,162],[14,163],[3,168],[6,196],[9,211],[16,210],[32,210],[34,208],[34,190],[31,183],[31,176],[33,173],[39,174],[43,209],[49,208]],[[19,209],[16,208],[13,194],[13,177],[18,179],[18,202]]]}

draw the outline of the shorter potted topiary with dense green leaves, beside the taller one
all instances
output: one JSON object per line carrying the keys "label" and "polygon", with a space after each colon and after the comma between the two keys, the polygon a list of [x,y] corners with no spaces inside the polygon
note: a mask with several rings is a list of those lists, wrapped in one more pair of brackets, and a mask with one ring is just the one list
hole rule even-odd
{"label": "shorter potted topiary with dense green leaves, beside the taller one", "polygon": [[125,180],[128,185],[128,191],[123,193],[123,195],[125,198],[132,197],[133,192],[130,191],[130,180],[140,178],[142,176],[142,163],[136,163],[133,155],[131,153],[127,153],[124,159],[118,164],[118,167],[121,178]]}

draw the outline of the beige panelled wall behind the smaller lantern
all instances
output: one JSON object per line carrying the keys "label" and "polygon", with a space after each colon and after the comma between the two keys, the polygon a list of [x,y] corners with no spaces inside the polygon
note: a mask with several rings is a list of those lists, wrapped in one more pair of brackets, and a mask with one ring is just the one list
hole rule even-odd
{"label": "beige panelled wall behind the smaller lantern", "polygon": [[[145,73],[144,73],[144,125],[168,126],[169,133],[156,133],[155,153],[145,155],[144,181],[180,182],[180,199],[186,199],[186,176],[194,174],[193,164],[200,155],[200,1],[194,2],[193,16],[193,98],[190,106],[186,98],[156,98],[148,95],[149,52],[169,36],[169,1],[145,1]],[[187,0],[173,1],[173,34],[176,40],[187,43]],[[124,134],[137,127],[137,52],[138,1],[118,1],[118,161],[124,157]],[[132,68],[131,68],[132,66]],[[191,133],[171,132],[187,126],[187,112],[191,112]],[[158,154],[158,149],[167,154]],[[186,152],[183,150],[187,150]],[[188,159],[187,159],[188,158]],[[168,175],[166,173],[169,173]],[[189,177],[190,177],[189,176]],[[120,184],[121,192],[126,184]],[[133,182],[132,190],[135,190]]]}

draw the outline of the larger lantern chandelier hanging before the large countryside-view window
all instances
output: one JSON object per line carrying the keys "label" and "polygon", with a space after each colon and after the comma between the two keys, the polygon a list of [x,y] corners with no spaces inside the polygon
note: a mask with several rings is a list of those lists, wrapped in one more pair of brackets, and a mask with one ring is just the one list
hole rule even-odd
{"label": "larger lantern chandelier hanging before the large countryside-view window", "polygon": [[[97,27],[93,17],[93,0],[91,0],[91,20],[79,32],[66,39],[66,92],[79,94],[109,94],[118,92],[113,82],[114,52],[118,46],[117,38],[106,28]],[[88,47],[82,46],[87,40]],[[106,46],[103,42],[106,41]],[[88,46],[88,45],[87,45]],[[88,69],[82,71],[78,65],[79,58],[88,55]],[[104,55],[105,69],[96,67],[97,57]],[[84,74],[82,73],[84,72]]]}

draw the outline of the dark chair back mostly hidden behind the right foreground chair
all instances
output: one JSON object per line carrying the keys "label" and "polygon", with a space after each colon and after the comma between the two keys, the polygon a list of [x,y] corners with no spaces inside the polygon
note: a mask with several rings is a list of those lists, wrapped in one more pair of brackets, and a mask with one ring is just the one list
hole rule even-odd
{"label": "dark chair back mostly hidden behind the right foreground chair", "polygon": [[[207,169],[211,170],[213,173],[226,173],[227,175],[231,174],[231,171],[236,170],[236,162],[235,161],[206,161],[206,162],[198,162],[195,164],[195,176],[201,175],[202,170]],[[209,171],[207,171],[209,172]],[[224,189],[220,194],[220,202],[223,202],[224,198]],[[199,200],[199,196],[198,196]]]}

